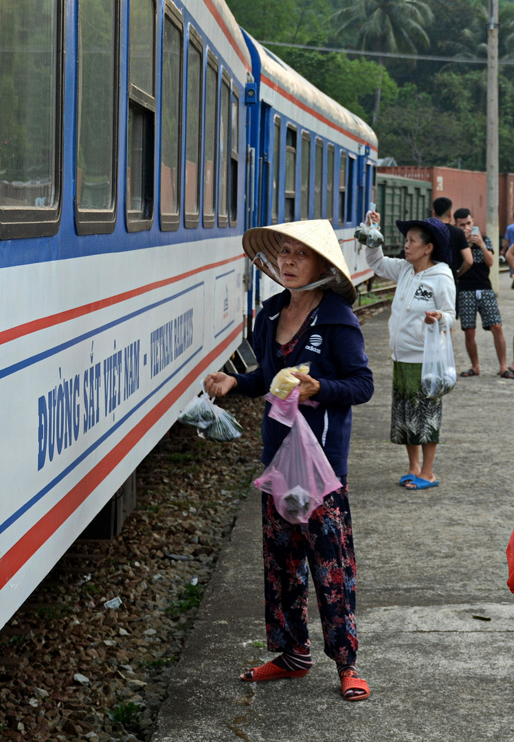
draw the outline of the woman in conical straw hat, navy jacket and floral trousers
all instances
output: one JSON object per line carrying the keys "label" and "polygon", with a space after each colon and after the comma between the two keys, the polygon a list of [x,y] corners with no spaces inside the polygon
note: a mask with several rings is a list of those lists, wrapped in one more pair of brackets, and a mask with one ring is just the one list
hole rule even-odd
{"label": "woman in conical straw hat, navy jacket and floral trousers", "polygon": [[[327,220],[290,222],[250,229],[243,236],[246,255],[284,287],[263,303],[254,328],[259,364],[248,374],[211,373],[209,394],[265,395],[281,368],[310,363],[300,379],[300,404],[326,453],[339,490],[330,493],[306,524],[291,525],[263,493],[263,551],[268,650],[274,660],[254,667],[241,680],[303,677],[312,666],[307,626],[309,563],[323,626],[325,652],[335,661],[346,700],[369,696],[355,669],[355,554],[346,486],[352,405],[373,393],[372,372],[354,313],[355,289],[339,242]],[[289,428],[263,419],[267,466]]]}

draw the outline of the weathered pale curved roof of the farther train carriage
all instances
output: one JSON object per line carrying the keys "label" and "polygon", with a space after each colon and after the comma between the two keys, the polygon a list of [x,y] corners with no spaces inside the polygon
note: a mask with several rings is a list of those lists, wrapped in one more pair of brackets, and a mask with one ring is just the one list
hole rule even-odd
{"label": "weathered pale curved roof of the farther train carriage", "polygon": [[[293,96],[300,102],[302,108],[315,111],[318,117],[322,116],[324,119],[328,119],[332,125],[335,125],[335,128],[343,129],[358,142],[369,144],[375,152],[378,150],[377,135],[363,119],[352,114],[351,111],[348,111],[347,108],[344,108],[343,105],[337,103],[326,93],[322,93],[315,85],[312,85],[312,82],[309,82],[296,70],[289,67],[286,62],[283,62],[280,57],[255,41],[248,33],[246,33],[246,36],[248,36],[249,42],[254,45],[260,59],[261,82],[266,82],[266,80],[263,81],[263,77],[266,78],[273,87],[277,86],[277,88]],[[256,70],[254,69],[255,73]],[[261,98],[263,96],[262,88],[260,96]]]}

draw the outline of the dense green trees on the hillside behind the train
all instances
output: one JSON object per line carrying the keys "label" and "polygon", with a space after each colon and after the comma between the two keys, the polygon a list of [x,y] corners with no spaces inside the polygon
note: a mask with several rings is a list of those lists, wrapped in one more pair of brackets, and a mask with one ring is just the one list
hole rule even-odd
{"label": "dense green trees on the hillside behind the train", "polygon": [[[237,21],[375,128],[380,157],[485,169],[487,67],[288,47],[487,59],[488,0],[228,0]],[[514,2],[499,0],[500,59],[514,59]],[[514,171],[514,65],[499,78],[501,171]]]}

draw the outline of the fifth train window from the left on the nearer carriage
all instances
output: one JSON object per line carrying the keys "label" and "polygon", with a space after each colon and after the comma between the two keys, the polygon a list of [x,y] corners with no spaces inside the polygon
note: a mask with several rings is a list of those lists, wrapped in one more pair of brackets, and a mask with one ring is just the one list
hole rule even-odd
{"label": "fifth train window from the left on the nearer carriage", "polygon": [[188,44],[188,88],[185,123],[184,223],[200,223],[200,152],[202,137],[202,43],[192,28]]}

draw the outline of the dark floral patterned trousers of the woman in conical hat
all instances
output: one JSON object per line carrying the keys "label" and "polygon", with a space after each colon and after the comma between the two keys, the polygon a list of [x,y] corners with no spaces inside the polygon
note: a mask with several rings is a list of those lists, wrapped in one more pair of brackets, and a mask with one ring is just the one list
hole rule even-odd
{"label": "dark floral patterned trousers of the woman in conical hat", "polygon": [[[268,650],[309,654],[309,568],[320,610],[325,654],[355,664],[355,554],[346,478],[309,523],[291,525],[263,493],[264,591]],[[309,566],[308,566],[309,564]]]}

